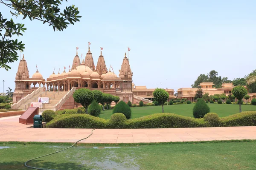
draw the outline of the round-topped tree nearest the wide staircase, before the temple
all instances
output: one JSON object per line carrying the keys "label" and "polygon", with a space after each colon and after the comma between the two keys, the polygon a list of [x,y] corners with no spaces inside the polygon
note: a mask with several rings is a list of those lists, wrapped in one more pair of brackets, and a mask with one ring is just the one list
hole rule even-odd
{"label": "round-topped tree nearest the wide staircase, before the temple", "polygon": [[86,114],[88,114],[87,108],[93,101],[93,92],[87,88],[80,88],[74,92],[73,98],[75,102],[80,103],[85,108]]}

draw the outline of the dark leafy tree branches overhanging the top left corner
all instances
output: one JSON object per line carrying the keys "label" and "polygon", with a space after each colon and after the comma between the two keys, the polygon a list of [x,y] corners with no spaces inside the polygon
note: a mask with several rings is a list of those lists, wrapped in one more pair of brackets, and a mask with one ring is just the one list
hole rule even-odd
{"label": "dark leafy tree branches overhanging the top left corner", "polygon": [[[63,31],[67,25],[79,21],[79,11],[74,5],[64,8],[63,12],[58,6],[63,0],[0,0],[0,3],[11,9],[15,17],[22,19],[39,20],[43,24],[52,26],[53,30]],[[67,1],[67,0],[65,0]],[[12,35],[22,36],[25,32],[24,24],[14,23],[11,19],[4,18],[0,12],[0,68],[11,69],[7,63],[18,60],[17,51],[25,48],[22,41],[12,39]],[[3,33],[2,33],[3,31]]]}

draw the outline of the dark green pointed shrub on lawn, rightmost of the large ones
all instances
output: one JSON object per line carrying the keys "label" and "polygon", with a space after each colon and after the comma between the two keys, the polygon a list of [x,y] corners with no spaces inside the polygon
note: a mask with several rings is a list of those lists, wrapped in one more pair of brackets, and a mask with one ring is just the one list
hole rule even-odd
{"label": "dark green pointed shrub on lawn, rightmost of the large ones", "polygon": [[198,100],[198,102],[195,104],[193,108],[193,115],[195,118],[203,118],[204,115],[206,115],[209,112],[210,108],[202,98]]}

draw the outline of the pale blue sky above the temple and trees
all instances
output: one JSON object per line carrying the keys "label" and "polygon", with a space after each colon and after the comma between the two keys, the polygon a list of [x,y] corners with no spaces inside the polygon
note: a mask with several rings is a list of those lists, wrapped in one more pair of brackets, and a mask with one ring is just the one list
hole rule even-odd
{"label": "pale blue sky above the temple and trees", "polygon": [[[61,8],[75,5],[80,22],[64,31],[53,31],[38,20],[22,20],[0,4],[4,18],[24,23],[26,32],[17,37],[25,43],[29,76],[36,71],[47,79],[76,55],[93,54],[96,66],[100,47],[107,68],[119,74],[129,51],[135,85],[147,88],[189,88],[200,74],[211,70],[230,80],[256,69],[255,0],[69,0]],[[13,37],[16,38],[16,37]],[[18,53],[20,54],[20,52]],[[15,89],[19,61],[0,68],[0,92]],[[66,70],[67,71],[67,70]],[[1,83],[2,82],[2,83]]]}

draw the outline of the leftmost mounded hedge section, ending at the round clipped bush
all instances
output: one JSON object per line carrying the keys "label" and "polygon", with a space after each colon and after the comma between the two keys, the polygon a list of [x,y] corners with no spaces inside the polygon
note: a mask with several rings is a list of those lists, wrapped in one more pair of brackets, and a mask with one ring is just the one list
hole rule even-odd
{"label": "leftmost mounded hedge section, ending at the round clipped bush", "polygon": [[[125,104],[126,105],[126,104]],[[107,128],[108,120],[88,114],[61,115],[47,123],[47,128]]]}

